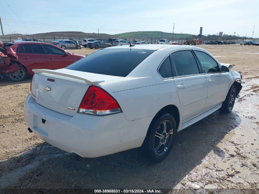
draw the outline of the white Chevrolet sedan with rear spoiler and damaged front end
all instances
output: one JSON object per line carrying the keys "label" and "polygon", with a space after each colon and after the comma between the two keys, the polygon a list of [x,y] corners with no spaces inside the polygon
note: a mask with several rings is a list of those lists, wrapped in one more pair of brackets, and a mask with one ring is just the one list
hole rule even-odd
{"label": "white Chevrolet sedan with rear spoiler and damaged front end", "polygon": [[153,161],[177,131],[229,113],[241,74],[189,45],[105,48],[64,69],[34,69],[25,100],[28,130],[70,153],[94,158],[142,147]]}

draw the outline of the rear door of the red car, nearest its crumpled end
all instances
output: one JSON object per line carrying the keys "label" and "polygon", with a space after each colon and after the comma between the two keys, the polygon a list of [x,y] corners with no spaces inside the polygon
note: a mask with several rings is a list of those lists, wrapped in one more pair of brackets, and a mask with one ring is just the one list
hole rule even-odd
{"label": "rear door of the red car, nearest its crumpled end", "polygon": [[47,69],[47,59],[40,44],[24,44],[17,49],[17,56],[27,69]]}

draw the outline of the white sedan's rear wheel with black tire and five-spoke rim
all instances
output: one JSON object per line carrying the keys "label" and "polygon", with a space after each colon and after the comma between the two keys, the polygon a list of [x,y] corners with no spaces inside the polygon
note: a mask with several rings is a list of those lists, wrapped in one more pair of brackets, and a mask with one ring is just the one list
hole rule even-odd
{"label": "white sedan's rear wheel with black tire and five-spoke rim", "polygon": [[[166,127],[164,127],[166,125]],[[169,154],[176,139],[176,122],[171,114],[152,121],[141,149],[151,161],[160,162]],[[158,147],[159,146],[159,147]]]}

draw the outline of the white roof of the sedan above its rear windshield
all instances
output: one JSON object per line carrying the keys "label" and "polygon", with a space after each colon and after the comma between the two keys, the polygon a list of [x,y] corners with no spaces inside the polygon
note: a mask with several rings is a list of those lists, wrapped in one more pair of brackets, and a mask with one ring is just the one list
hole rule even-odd
{"label": "white roof of the sedan above its rear windshield", "polygon": [[[135,44],[134,44],[135,45]],[[200,47],[196,46],[190,46],[190,45],[172,45],[172,44],[137,44],[135,46],[130,47],[130,45],[124,45],[119,47],[109,47],[104,49],[120,49],[120,48],[126,48],[126,49],[143,49],[143,50],[153,50],[156,51],[158,49],[168,49],[171,51],[176,51],[180,49],[197,49],[197,50],[204,50]],[[205,51],[205,50],[204,50]]]}

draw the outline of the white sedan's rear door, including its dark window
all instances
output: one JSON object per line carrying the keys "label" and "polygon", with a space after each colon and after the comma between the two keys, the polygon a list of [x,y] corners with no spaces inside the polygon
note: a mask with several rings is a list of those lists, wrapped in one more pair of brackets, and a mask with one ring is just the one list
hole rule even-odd
{"label": "white sedan's rear door, including its dark window", "polygon": [[204,112],[207,82],[191,50],[173,52],[171,59],[184,124]]}

